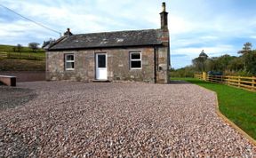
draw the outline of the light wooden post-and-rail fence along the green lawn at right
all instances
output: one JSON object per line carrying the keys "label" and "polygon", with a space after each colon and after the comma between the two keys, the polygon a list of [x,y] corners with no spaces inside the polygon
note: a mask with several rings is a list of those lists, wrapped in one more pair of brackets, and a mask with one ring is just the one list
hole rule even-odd
{"label": "light wooden post-and-rail fence along the green lawn at right", "polygon": [[211,83],[223,83],[231,86],[236,86],[250,91],[256,91],[256,77],[247,76],[231,76],[231,75],[207,75],[195,74],[195,78],[200,80],[208,81]]}

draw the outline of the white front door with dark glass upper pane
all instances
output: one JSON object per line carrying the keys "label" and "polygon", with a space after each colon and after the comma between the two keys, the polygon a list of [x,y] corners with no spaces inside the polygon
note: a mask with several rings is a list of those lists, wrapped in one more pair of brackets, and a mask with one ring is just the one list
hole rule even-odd
{"label": "white front door with dark glass upper pane", "polygon": [[108,80],[107,53],[96,54],[96,80]]}

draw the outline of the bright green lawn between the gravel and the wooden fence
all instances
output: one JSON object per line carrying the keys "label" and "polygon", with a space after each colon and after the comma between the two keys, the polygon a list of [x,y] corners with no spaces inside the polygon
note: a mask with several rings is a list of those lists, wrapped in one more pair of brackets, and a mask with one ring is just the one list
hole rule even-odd
{"label": "bright green lawn between the gravel and the wooden fence", "polygon": [[245,91],[224,84],[208,83],[195,78],[172,78],[195,83],[218,95],[220,112],[252,138],[256,139],[256,92]]}

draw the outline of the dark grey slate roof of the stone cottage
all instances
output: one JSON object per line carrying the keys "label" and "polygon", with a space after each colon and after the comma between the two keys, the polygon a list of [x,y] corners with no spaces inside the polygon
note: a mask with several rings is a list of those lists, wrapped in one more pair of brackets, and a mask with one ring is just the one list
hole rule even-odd
{"label": "dark grey slate roof of the stone cottage", "polygon": [[160,36],[161,29],[78,34],[58,40],[49,51],[156,45]]}

